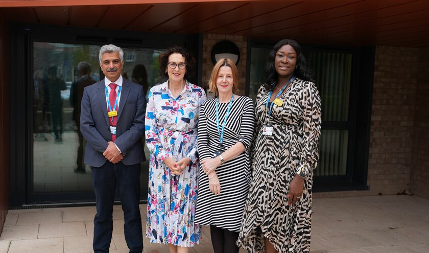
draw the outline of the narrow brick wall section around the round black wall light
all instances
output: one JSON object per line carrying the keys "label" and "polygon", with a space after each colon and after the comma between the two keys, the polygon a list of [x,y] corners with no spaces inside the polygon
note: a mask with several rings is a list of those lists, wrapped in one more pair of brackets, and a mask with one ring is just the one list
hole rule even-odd
{"label": "narrow brick wall section around the round black wall light", "polygon": [[247,40],[246,37],[237,35],[225,35],[225,34],[212,34],[204,33],[203,35],[203,63],[202,63],[202,76],[203,76],[203,87],[208,87],[208,80],[210,79],[211,70],[213,69],[213,63],[211,62],[211,49],[213,46],[221,40],[229,40],[234,42],[235,45],[240,49],[240,60],[237,64],[237,69],[240,75],[239,92],[240,95],[245,95],[246,87],[246,53],[247,53]]}

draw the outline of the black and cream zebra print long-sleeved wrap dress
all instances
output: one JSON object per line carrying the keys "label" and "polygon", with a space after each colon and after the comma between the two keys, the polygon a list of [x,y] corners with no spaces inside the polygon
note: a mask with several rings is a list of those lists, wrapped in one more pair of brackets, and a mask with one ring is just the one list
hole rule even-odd
{"label": "black and cream zebra print long-sleeved wrap dress", "polygon": [[[319,92],[314,83],[295,79],[279,97],[283,104],[273,105],[273,134],[263,135],[268,96],[269,90],[261,86],[251,148],[253,174],[237,245],[250,253],[265,252],[265,237],[279,252],[310,252],[313,169],[321,128]],[[303,162],[310,168],[304,192],[295,206],[287,205],[291,181]]]}

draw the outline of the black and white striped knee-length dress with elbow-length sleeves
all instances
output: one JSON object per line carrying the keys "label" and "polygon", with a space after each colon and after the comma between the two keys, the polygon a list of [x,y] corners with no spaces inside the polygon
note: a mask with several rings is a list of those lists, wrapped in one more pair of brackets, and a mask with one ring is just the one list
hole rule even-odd
{"label": "black and white striped knee-length dress with elbow-length sleeves", "polygon": [[[227,103],[219,103],[220,128],[228,108]],[[198,122],[198,154],[200,160],[212,158],[220,149],[219,132],[216,127],[216,99],[210,99],[201,106]],[[249,190],[249,148],[253,137],[255,116],[253,101],[241,96],[232,102],[226,121],[224,140],[225,151],[237,142],[246,150],[216,169],[221,185],[221,194],[214,195],[208,186],[208,177],[200,167],[195,224],[215,225],[230,231],[240,230],[244,205]]]}

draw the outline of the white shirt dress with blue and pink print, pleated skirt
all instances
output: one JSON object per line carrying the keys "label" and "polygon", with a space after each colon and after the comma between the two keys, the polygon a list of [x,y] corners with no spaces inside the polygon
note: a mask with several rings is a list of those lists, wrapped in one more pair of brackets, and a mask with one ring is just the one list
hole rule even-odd
{"label": "white shirt dress with blue and pink print, pleated skirt", "polygon": [[[197,197],[197,123],[204,89],[186,82],[177,98],[168,81],[151,88],[146,109],[145,134],[150,155],[146,237],[151,243],[182,247],[198,244],[200,226],[194,224]],[[182,175],[170,173],[163,160],[191,162]]]}

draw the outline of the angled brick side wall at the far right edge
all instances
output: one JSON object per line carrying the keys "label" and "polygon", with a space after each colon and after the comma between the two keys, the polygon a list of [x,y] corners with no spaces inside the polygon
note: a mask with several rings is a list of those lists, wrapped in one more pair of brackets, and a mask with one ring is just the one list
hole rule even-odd
{"label": "angled brick side wall at the far right edge", "polygon": [[429,198],[429,48],[419,51],[410,189]]}

